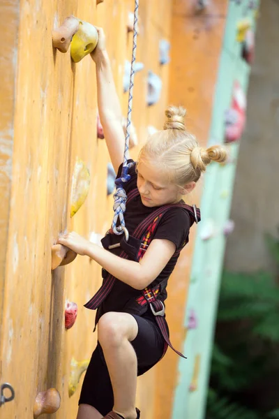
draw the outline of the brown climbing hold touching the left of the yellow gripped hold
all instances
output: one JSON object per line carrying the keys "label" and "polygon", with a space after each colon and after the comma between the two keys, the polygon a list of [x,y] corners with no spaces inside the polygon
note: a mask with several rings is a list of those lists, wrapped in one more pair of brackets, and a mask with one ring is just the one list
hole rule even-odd
{"label": "brown climbing hold touching the left of the yellow gripped hold", "polygon": [[52,32],[52,45],[60,52],[67,52],[73,36],[80,27],[77,17],[71,15],[66,17],[61,27]]}

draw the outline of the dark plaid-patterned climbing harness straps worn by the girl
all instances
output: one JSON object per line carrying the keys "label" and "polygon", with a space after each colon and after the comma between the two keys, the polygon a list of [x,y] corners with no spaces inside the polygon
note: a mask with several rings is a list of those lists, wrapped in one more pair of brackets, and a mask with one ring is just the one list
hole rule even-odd
{"label": "dark plaid-patterned climbing harness straps worn by the girl", "polygon": [[[132,191],[128,193],[127,204],[130,202],[130,200],[137,198],[139,194],[140,193],[137,188],[132,189]],[[133,235],[130,235],[129,242],[128,240],[126,240],[126,237],[122,237],[121,249],[123,249],[123,251],[121,251],[120,257],[123,259],[128,259],[130,257],[132,258],[132,260],[139,262],[144,256],[145,251],[148,249],[149,244],[151,243],[151,240],[153,239],[153,236],[156,233],[156,228],[158,228],[160,219],[162,219],[162,216],[167,211],[171,210],[174,207],[181,207],[188,212],[190,216],[191,225],[194,222],[197,223],[200,221],[199,210],[195,206],[190,207],[190,205],[178,203],[158,207],[155,211],[151,212],[151,214],[146,216],[146,218],[135,228]],[[102,240],[102,244],[105,249],[110,248],[110,238],[111,235],[106,235]],[[179,255],[181,249],[183,249],[183,246],[176,250],[172,258],[176,258]],[[100,307],[100,304],[102,304],[107,295],[109,295],[110,291],[112,290],[112,287],[115,284],[116,278],[112,274],[109,274],[109,272],[103,269],[102,275],[103,284],[97,291],[97,293],[91,298],[91,300],[84,304],[84,307],[86,307],[86,309],[98,309],[98,307]],[[156,284],[156,286],[152,286],[151,284],[151,286],[144,288],[144,290],[140,291],[142,295],[140,295],[140,297],[137,297],[137,299],[133,303],[133,307],[139,307],[149,304],[151,312],[156,318],[156,323],[158,324],[163,338],[165,339],[165,351],[167,350],[168,345],[181,357],[186,358],[182,353],[176,351],[176,349],[174,349],[171,342],[169,341],[169,335],[167,332],[167,322],[165,321],[165,304],[159,298],[163,297],[162,293],[165,290],[166,286],[167,281],[164,279],[160,282],[160,284]],[[100,311],[98,311],[96,314],[95,325],[98,323],[99,318]]]}

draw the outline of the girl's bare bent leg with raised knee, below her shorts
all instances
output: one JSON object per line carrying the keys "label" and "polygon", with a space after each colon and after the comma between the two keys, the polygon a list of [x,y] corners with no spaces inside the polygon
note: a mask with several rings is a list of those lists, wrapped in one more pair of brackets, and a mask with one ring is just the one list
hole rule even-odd
{"label": "girl's bare bent leg with raised knee, below her shorts", "polygon": [[137,356],[130,344],[137,332],[137,321],[127,313],[110,311],[98,322],[98,341],[103,348],[114,392],[113,410],[126,419],[137,418]]}

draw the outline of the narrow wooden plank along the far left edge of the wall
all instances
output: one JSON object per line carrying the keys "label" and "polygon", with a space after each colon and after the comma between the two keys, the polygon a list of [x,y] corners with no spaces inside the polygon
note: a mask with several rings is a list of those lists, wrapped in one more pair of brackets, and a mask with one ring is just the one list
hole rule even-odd
{"label": "narrow wooden plank along the far left edge of the wall", "polygon": [[[0,57],[0,336],[2,335],[3,325],[3,293],[10,212],[19,7],[20,2],[18,0],[1,1],[0,4],[1,33],[5,34]],[[3,339],[0,339],[0,353],[2,343]]]}

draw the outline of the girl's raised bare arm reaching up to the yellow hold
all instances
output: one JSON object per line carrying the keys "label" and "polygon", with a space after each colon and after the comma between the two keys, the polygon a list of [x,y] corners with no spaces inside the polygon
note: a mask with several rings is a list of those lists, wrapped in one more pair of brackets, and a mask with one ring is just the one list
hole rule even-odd
{"label": "girl's raised bare arm reaching up to the yellow hold", "polygon": [[99,34],[98,45],[91,53],[91,57],[96,63],[98,110],[112,166],[117,173],[123,162],[125,147],[122,112],[116,93],[110,59],[105,49],[105,34],[103,29],[97,28],[97,30]]}

